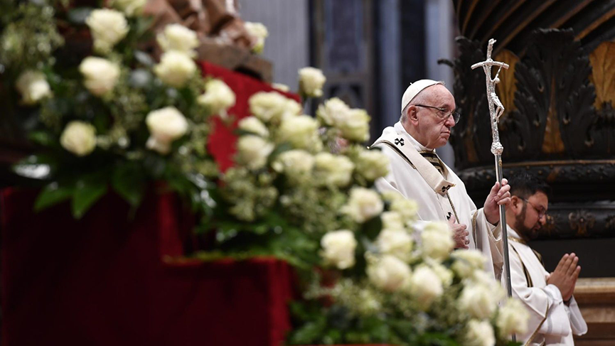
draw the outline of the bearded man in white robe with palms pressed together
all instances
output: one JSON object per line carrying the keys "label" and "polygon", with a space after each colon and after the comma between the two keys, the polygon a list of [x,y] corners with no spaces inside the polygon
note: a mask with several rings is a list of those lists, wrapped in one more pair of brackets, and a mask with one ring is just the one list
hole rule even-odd
{"label": "bearded man in white robe with palms pressed together", "polygon": [[587,325],[572,292],[581,267],[574,253],[562,256],[551,274],[542,257],[528,246],[546,222],[550,188],[538,178],[520,173],[510,178],[506,207],[510,279],[513,296],[530,313],[528,332],[517,335],[524,345],[574,345],[572,334],[587,333]]}

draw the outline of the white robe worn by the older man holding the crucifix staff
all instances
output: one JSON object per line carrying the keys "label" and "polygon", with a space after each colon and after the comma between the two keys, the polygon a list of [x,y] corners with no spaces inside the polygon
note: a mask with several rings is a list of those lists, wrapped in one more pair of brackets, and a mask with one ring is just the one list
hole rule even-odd
{"label": "white robe worn by the older man holding the crucifix staff", "polygon": [[[469,248],[483,252],[491,260],[486,270],[495,279],[500,279],[503,266],[501,227],[487,222],[483,208],[476,209],[464,183],[439,160],[435,150],[419,144],[399,121],[384,129],[372,147],[382,149],[390,159],[390,173],[378,178],[375,187],[381,192],[397,191],[417,201],[419,220],[446,221],[456,215],[457,222],[466,225],[470,233]],[[442,172],[434,168],[438,164]]]}

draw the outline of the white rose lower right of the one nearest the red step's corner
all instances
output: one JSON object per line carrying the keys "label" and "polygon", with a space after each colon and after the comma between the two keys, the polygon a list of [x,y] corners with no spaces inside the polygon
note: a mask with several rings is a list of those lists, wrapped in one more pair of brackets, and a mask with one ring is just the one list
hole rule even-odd
{"label": "white rose lower right of the one nearest the red step's corner", "polygon": [[389,292],[405,286],[412,274],[410,266],[404,261],[386,254],[368,265],[367,272],[368,278],[376,287]]}

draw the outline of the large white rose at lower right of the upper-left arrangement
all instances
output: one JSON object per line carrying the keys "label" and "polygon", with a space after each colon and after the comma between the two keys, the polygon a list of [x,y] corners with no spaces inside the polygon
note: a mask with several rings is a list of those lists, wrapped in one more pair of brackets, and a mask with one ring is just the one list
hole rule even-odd
{"label": "large white rose at lower right of the upper-left arrangement", "polygon": [[169,153],[173,141],[188,131],[188,121],[175,107],[149,112],[145,123],[151,134],[146,147],[161,154]]}

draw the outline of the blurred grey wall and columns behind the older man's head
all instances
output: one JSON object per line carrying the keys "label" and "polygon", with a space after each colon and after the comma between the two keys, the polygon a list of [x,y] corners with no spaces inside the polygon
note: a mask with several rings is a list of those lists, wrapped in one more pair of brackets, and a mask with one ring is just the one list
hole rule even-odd
{"label": "blurred grey wall and columns behind the older man's head", "polygon": [[[430,78],[453,84],[451,68],[437,63],[454,57],[449,0],[238,2],[242,18],[269,29],[263,56],[274,65],[274,82],[296,90],[297,70],[319,67],[327,77],[324,97],[368,110],[372,139],[399,119],[401,95],[410,82]],[[439,154],[454,166],[451,146]]]}

